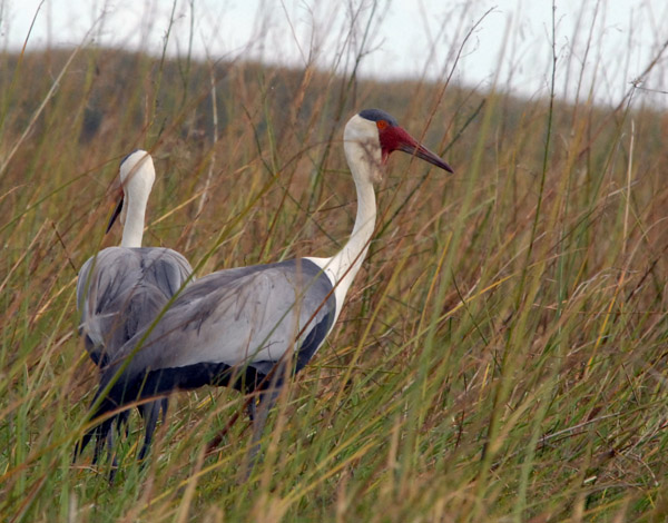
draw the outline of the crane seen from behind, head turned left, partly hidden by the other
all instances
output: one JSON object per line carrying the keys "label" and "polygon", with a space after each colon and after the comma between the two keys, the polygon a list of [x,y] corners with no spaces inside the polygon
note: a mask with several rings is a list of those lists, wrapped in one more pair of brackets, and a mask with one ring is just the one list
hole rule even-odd
{"label": "crane seen from behind, head turned left, partly hidden by the other", "polygon": [[[120,164],[119,177],[121,197],[107,231],[120,216],[120,247],[108,247],[89,258],[77,280],[79,330],[88,354],[102,372],[120,356],[129,339],[151,324],[193,272],[188,260],[175,250],[141,247],[146,205],[156,178],[150,155],[144,150],[128,155]],[[160,408],[165,415],[166,398],[139,407],[147,424],[140,457],[150,445]]]}

